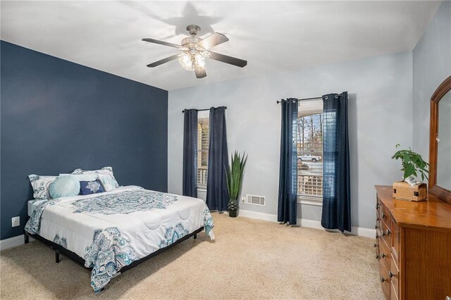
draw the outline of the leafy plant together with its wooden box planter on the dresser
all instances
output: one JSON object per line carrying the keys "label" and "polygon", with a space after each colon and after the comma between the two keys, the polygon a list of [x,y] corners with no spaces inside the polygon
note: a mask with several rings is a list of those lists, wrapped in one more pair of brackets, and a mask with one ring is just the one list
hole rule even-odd
{"label": "leafy plant together with its wooden box planter on the dresser", "polygon": [[[400,144],[396,144],[399,148]],[[417,178],[421,176],[421,180],[428,178],[429,164],[423,160],[420,154],[412,151],[412,149],[398,150],[393,154],[392,159],[400,159],[402,161],[401,181],[393,182],[393,198],[408,201],[424,201],[428,198],[428,187],[426,183],[419,181]]]}

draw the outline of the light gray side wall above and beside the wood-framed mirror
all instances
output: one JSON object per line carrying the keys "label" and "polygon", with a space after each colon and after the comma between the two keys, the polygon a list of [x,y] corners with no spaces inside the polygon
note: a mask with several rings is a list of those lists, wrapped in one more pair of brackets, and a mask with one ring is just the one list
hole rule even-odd
{"label": "light gray side wall above and beside the wood-framed mirror", "polygon": [[413,149],[427,161],[431,96],[451,75],[451,1],[443,1],[416,44],[413,65]]}

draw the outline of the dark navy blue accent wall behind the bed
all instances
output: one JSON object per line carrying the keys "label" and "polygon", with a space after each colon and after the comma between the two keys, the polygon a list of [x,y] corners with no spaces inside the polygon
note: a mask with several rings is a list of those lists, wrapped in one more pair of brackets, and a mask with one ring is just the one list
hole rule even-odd
{"label": "dark navy blue accent wall behind the bed", "polygon": [[4,41],[0,50],[1,239],[23,234],[31,173],[111,165],[120,185],[167,191],[167,91]]}

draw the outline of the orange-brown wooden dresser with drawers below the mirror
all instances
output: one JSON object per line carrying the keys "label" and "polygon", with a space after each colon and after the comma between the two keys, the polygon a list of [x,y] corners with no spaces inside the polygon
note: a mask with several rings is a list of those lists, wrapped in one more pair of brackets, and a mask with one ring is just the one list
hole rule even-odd
{"label": "orange-brown wooden dresser with drawers below the mirror", "polygon": [[376,185],[376,259],[387,299],[451,296],[451,205],[429,194],[423,202],[393,199]]}

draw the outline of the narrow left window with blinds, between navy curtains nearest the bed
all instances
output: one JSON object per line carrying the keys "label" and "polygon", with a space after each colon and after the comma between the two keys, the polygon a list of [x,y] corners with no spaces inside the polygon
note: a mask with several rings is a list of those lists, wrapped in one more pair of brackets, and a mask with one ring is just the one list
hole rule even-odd
{"label": "narrow left window with blinds, between navy curtains nearest the bed", "polygon": [[197,115],[197,188],[206,189],[206,175],[209,165],[209,111]]}

